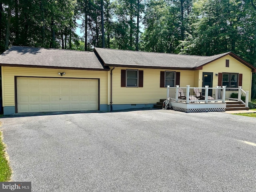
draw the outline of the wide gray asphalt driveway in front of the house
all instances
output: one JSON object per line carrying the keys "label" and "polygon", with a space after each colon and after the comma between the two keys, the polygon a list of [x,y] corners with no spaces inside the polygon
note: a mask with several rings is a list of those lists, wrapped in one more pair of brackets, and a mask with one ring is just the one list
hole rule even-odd
{"label": "wide gray asphalt driveway in front of the house", "polygon": [[255,192],[256,118],[139,110],[0,119],[34,192]]}

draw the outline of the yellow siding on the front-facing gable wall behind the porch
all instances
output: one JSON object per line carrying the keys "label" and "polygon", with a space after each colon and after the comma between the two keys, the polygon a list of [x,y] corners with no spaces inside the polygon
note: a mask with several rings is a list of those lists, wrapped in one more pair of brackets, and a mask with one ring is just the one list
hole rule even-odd
{"label": "yellow siding on the front-facing gable wall behind the porch", "polygon": [[[229,60],[229,67],[226,67],[227,59]],[[199,72],[199,86],[202,86],[203,72],[213,72],[213,87],[218,86],[218,76],[215,76],[215,74],[225,72],[243,74],[242,89],[251,92],[252,70],[229,55],[203,66],[203,69]]]}

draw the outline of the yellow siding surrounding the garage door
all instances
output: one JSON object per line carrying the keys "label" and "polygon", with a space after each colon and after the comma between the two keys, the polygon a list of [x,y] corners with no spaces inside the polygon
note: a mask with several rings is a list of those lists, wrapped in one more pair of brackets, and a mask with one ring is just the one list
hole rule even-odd
{"label": "yellow siding surrounding the garage door", "polygon": [[[65,72],[64,76],[58,72]],[[108,104],[108,71],[2,67],[3,106],[15,105],[14,76],[57,78],[100,78],[100,104]]]}

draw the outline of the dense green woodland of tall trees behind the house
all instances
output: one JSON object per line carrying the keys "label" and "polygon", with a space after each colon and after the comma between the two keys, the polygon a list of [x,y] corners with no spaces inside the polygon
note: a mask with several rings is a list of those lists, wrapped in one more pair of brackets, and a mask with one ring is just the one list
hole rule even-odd
{"label": "dense green woodland of tall trees behind the house", "polygon": [[[78,20],[83,37],[76,34]],[[256,0],[0,0],[0,52],[11,45],[202,56],[232,51],[256,66]]]}

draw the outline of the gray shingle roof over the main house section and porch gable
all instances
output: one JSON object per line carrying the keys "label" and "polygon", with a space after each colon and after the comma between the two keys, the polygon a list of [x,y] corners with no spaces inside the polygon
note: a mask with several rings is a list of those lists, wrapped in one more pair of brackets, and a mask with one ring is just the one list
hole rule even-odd
{"label": "gray shingle roof over the main house section and porch gable", "polygon": [[[208,64],[218,58],[230,54],[226,52],[214,56],[194,56],[166,53],[153,53],[129,50],[114,50],[107,48],[94,48],[106,66],[132,66],[132,67],[152,67],[152,68],[181,68],[196,69],[202,65]],[[236,56],[238,59],[238,56]],[[240,62],[246,63],[240,58]],[[248,64],[251,67],[250,64]]]}

